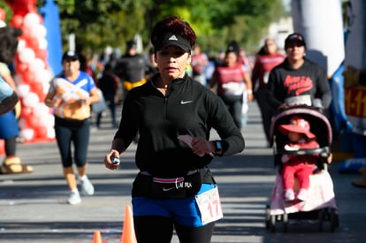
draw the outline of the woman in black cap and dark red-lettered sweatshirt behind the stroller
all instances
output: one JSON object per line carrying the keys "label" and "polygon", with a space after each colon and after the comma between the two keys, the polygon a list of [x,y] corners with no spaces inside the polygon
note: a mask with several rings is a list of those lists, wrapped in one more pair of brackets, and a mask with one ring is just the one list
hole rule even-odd
{"label": "woman in black cap and dark red-lettered sweatshirt behind the stroller", "polygon": [[320,106],[327,114],[332,102],[331,87],[324,69],[305,58],[303,36],[289,34],[285,50],[285,60],[270,72],[266,93],[268,104],[274,110],[286,109],[292,104]]}

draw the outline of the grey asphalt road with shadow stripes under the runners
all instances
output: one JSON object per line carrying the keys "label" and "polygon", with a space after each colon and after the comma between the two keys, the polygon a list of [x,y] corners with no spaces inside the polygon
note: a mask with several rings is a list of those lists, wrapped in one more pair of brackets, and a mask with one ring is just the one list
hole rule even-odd
{"label": "grey asphalt road with shadow stripes under the runners", "polygon": [[[0,242],[93,242],[95,231],[103,242],[120,242],[125,207],[137,170],[133,163],[135,146],[122,156],[119,170],[103,166],[114,130],[107,117],[102,129],[93,129],[88,158],[88,176],[95,185],[95,195],[82,197],[80,205],[69,205],[69,194],[55,142],[19,144],[19,156],[34,166],[34,172],[0,175]],[[307,220],[289,222],[286,233],[265,228],[265,207],[270,203],[275,179],[271,148],[266,148],[261,118],[256,103],[251,103],[248,125],[242,133],[246,149],[239,155],[215,158],[210,168],[217,180],[224,210],[212,237],[213,243],[309,243],[366,242],[366,189],[351,185],[357,174],[339,174],[338,162],[330,166],[339,228],[317,231],[317,224]],[[213,134],[215,136],[215,134]],[[178,242],[176,236],[172,242]],[[155,243],[155,242],[153,242]]]}

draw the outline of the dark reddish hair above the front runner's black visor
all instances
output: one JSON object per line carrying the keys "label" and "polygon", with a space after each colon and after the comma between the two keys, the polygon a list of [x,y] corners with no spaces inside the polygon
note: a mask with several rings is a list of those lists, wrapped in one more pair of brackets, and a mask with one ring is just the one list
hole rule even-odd
{"label": "dark reddish hair above the front runner's black visor", "polygon": [[194,30],[186,21],[179,17],[168,17],[157,22],[155,27],[153,27],[150,36],[151,44],[156,46],[159,36],[163,36],[166,33],[179,34],[191,44],[191,47],[194,46],[197,38]]}

